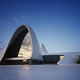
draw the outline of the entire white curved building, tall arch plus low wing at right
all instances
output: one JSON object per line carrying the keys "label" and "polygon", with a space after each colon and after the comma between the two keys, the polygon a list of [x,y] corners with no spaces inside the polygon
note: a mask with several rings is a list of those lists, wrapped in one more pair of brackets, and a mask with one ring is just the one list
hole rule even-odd
{"label": "entire white curved building, tall arch plus low wing at right", "polygon": [[[10,34],[9,33],[6,34]],[[6,37],[4,34],[4,38]],[[7,43],[0,46],[0,64],[74,64],[80,63],[80,52],[48,53],[44,45],[39,46],[36,35],[28,25],[13,29]],[[4,40],[0,41],[4,43]],[[64,57],[61,59],[61,57]]]}

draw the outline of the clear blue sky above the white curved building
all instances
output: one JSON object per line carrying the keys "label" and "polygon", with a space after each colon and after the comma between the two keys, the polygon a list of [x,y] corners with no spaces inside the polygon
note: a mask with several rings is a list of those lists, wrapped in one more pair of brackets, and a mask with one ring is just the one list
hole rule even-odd
{"label": "clear blue sky above the white curved building", "polygon": [[79,0],[0,0],[0,42],[22,24],[49,52],[80,51]]}

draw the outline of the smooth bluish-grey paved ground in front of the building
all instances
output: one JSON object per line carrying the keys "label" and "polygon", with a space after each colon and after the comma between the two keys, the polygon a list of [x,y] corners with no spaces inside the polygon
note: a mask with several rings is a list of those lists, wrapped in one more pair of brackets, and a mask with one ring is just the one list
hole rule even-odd
{"label": "smooth bluish-grey paved ground in front of the building", "polygon": [[0,80],[80,80],[80,65],[0,65]]}

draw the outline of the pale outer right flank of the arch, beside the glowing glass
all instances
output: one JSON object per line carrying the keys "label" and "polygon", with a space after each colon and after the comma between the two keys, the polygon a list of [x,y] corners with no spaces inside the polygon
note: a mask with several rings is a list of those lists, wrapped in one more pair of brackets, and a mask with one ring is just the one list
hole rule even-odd
{"label": "pale outer right flank of the arch, beside the glowing glass", "polygon": [[32,59],[43,60],[41,52],[40,52],[40,46],[39,46],[38,40],[36,38],[36,35],[33,32],[33,30],[31,29],[31,27],[28,27],[28,28],[29,28],[31,38],[32,38]]}

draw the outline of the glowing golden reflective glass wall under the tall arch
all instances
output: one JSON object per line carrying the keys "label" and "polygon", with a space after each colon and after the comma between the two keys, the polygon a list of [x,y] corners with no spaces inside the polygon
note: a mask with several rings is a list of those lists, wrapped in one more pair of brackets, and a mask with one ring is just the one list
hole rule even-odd
{"label": "glowing golden reflective glass wall under the tall arch", "polygon": [[30,58],[31,55],[32,55],[32,43],[30,33],[28,32],[21,44],[18,57]]}

